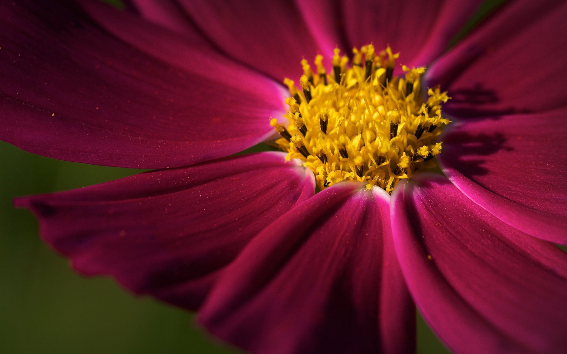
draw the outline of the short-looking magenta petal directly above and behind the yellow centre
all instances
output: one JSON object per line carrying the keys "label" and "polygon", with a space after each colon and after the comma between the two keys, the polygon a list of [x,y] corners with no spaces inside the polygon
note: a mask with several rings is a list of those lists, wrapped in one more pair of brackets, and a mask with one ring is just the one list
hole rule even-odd
{"label": "short-looking magenta petal directly above and behind the yellow centre", "polygon": [[[389,44],[400,52],[400,63],[428,65],[482,3],[466,1],[344,1],[345,28],[350,44]],[[396,68],[400,69],[400,68]]]}

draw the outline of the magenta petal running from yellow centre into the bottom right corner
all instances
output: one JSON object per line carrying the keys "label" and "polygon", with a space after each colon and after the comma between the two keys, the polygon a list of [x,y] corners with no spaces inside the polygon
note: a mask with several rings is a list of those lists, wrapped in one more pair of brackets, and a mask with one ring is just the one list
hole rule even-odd
{"label": "magenta petal running from yellow centre into the bottom right corner", "polygon": [[567,254],[502,223],[445,177],[392,194],[400,266],[426,321],[456,353],[562,353]]}

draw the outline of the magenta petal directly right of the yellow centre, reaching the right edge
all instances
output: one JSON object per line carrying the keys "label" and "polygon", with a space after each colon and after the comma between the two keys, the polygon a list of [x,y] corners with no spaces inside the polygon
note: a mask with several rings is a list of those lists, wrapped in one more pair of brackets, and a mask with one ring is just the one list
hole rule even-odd
{"label": "magenta petal directly right of the yellow centre, reaching the right edge", "polygon": [[505,223],[567,244],[567,110],[453,123],[438,156],[467,197]]}

